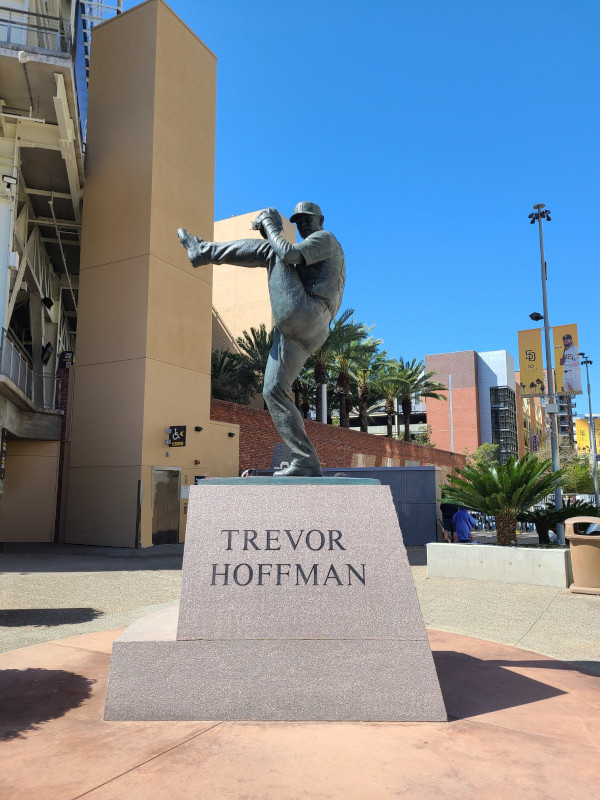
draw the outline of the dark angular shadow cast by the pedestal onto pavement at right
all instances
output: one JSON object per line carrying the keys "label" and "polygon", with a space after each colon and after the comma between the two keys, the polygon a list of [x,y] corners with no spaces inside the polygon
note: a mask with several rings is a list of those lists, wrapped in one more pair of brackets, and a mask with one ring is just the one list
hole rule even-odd
{"label": "dark angular shadow cast by the pedestal onto pavement at right", "polygon": [[454,650],[435,651],[433,660],[448,717],[452,719],[476,717],[566,694],[554,686],[505,669],[568,668],[561,661],[483,661]]}

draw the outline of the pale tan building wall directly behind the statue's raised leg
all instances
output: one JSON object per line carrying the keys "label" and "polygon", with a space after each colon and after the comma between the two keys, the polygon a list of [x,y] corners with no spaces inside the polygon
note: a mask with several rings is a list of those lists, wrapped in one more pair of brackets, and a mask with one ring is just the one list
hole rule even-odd
{"label": "pale tan building wall directly behind the statue's raised leg", "polygon": [[[215,241],[262,239],[260,233],[250,227],[257,214],[258,211],[252,211],[215,222]],[[296,241],[296,226],[288,219],[283,221],[283,235],[288,242]],[[267,272],[264,269],[246,269],[228,264],[214,267],[213,305],[234,339],[251,327],[258,328],[261,323],[267,329],[273,327]],[[213,347],[220,347],[218,339]]]}

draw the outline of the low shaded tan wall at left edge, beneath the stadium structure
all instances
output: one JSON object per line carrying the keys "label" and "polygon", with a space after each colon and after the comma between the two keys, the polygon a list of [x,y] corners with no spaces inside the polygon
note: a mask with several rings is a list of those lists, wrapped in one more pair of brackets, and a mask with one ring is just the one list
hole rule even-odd
{"label": "low shaded tan wall at left edge, beneath the stadium structure", "polygon": [[59,452],[59,442],[7,442],[0,540],[53,541]]}

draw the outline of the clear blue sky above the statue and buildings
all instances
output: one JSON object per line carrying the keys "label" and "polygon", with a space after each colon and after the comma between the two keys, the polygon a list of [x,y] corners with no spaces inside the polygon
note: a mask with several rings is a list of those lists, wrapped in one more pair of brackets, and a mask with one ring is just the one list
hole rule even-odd
{"label": "clear blue sky above the statue and buildings", "polygon": [[600,413],[597,0],[170,5],[218,57],[216,219],[313,200],[390,356],[516,361],[546,203],[550,321],[579,324]]}

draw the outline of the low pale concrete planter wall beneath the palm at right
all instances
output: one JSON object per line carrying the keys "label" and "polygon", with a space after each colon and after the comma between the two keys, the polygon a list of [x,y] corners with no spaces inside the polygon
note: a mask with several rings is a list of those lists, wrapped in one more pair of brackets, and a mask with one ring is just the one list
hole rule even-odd
{"label": "low pale concrete planter wall beneath the palm at right", "polygon": [[534,547],[430,542],[427,577],[566,588],[571,582],[570,553]]}

